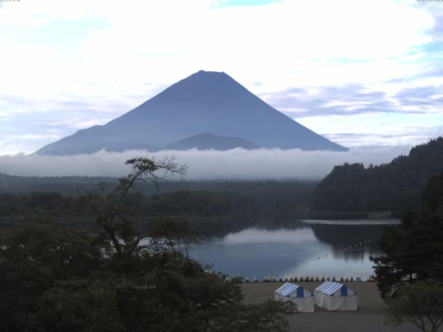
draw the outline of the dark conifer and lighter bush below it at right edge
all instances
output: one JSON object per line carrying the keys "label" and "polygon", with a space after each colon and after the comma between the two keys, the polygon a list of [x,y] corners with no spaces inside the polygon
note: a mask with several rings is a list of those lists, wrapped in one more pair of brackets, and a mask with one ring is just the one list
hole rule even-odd
{"label": "dark conifer and lighter bush below it at right edge", "polygon": [[379,240],[374,257],[377,286],[390,322],[410,322],[435,332],[443,322],[443,172],[422,192],[422,208],[404,216]]}

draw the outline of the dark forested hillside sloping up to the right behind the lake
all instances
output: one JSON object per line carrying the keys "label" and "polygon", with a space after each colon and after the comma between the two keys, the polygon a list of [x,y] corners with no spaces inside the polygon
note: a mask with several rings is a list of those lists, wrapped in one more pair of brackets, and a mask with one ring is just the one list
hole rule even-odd
{"label": "dark forested hillside sloping up to the right behind the lake", "polygon": [[325,211],[390,211],[417,209],[421,191],[443,169],[443,138],[410,150],[379,166],[345,163],[336,166],[315,188],[312,205]]}

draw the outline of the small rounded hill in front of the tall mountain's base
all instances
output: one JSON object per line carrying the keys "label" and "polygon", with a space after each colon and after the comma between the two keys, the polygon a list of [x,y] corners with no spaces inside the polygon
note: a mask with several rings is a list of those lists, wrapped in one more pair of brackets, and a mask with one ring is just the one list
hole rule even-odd
{"label": "small rounded hill in front of the tall mountain's base", "polygon": [[242,138],[218,136],[212,133],[199,133],[198,135],[190,136],[167,145],[163,147],[162,150],[188,150],[195,148],[199,150],[215,149],[226,151],[235,149],[236,147],[242,147],[243,149],[258,148],[254,143]]}

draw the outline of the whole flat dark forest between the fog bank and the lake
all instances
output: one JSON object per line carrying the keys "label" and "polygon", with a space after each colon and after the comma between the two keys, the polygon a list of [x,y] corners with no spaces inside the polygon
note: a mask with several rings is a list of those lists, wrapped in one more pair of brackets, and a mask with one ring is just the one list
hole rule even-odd
{"label": "whole flat dark forest between the fog bank and the lake", "polygon": [[[85,192],[118,187],[117,178],[0,176],[0,227],[10,228],[45,216],[59,225],[96,231],[93,210],[79,200]],[[258,222],[296,219],[309,207],[316,183],[164,182],[138,183],[125,196],[142,228],[161,216],[183,218],[201,235],[218,236]]]}

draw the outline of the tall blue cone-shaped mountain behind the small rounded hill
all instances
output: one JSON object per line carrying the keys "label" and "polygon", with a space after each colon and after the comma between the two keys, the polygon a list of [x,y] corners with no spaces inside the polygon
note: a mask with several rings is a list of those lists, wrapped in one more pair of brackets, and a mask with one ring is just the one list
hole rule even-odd
{"label": "tall blue cone-shaped mountain behind the small rounded hill", "polygon": [[265,148],[347,150],[273,109],[226,73],[199,71],[123,116],[77,131],[36,154],[156,151],[201,133],[235,137]]}

